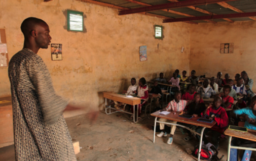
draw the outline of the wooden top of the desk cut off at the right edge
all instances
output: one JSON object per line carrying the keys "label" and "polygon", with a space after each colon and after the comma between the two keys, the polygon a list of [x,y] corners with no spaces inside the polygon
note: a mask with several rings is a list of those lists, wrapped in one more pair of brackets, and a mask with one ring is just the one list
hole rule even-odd
{"label": "wooden top of the desk cut off at the right edge", "polygon": [[227,129],[224,132],[225,135],[232,136],[232,137],[237,137],[241,139],[246,139],[246,140],[251,140],[251,141],[256,141],[256,130],[250,130],[248,129],[247,132],[243,131],[237,131],[237,130],[230,130]]}

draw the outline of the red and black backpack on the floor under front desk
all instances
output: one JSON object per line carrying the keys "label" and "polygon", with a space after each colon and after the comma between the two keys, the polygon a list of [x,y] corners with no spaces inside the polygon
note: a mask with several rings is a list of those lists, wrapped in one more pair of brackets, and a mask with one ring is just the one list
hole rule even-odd
{"label": "red and black backpack on the floor under front desk", "polygon": [[[192,152],[192,155],[194,155],[195,157],[198,157],[198,149],[199,149],[199,145],[196,145],[194,148],[194,151]],[[201,146],[201,156],[200,159],[202,160],[221,160],[223,158],[224,155],[222,155],[221,158],[218,158],[218,150],[215,148],[214,145],[212,145],[211,143],[208,144],[204,144],[204,142],[202,141],[202,146]]]}

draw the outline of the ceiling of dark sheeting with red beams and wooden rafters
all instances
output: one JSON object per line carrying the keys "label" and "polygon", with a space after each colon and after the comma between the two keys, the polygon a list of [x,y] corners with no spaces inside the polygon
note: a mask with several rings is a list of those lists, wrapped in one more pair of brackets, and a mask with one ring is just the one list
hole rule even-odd
{"label": "ceiling of dark sheeting with red beams and wooden rafters", "polygon": [[145,14],[164,23],[217,23],[256,21],[256,0],[77,0],[111,7],[119,15]]}

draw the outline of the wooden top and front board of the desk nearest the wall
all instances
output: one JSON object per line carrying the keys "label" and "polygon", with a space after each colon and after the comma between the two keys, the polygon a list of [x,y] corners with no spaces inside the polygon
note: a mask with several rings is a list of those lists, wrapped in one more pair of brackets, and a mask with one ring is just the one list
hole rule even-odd
{"label": "wooden top and front board of the desk nearest the wall", "polygon": [[114,92],[103,92],[103,97],[111,100],[115,100],[118,102],[126,103],[126,104],[131,104],[131,105],[136,105],[140,104],[140,98],[128,98],[125,95],[122,94],[117,94]]}

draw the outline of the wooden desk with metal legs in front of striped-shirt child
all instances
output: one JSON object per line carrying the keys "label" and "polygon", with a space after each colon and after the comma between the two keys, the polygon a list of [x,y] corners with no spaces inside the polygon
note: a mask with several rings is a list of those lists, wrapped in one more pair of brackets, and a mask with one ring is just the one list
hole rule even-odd
{"label": "wooden desk with metal legs in front of striped-shirt child", "polygon": [[[153,142],[155,142],[156,125],[157,125],[157,123],[163,123],[163,124],[168,124],[168,125],[176,125],[176,126],[180,126],[180,127],[182,127],[182,128],[188,129],[188,130],[190,130],[191,132],[196,133],[197,135],[200,135],[199,155],[198,155],[198,160],[200,160],[201,145],[202,145],[202,140],[203,140],[203,132],[204,132],[204,129],[205,129],[205,128],[212,128],[212,127],[216,124],[216,122],[213,121],[212,123],[205,123],[205,122],[197,121],[200,117],[193,117],[193,118],[191,118],[191,119],[182,118],[182,117],[179,117],[179,114],[178,114],[177,112],[176,112],[176,113],[171,112],[171,113],[168,114],[168,115],[160,115],[159,113],[160,113],[160,111],[157,111],[157,112],[151,114],[151,116],[156,117],[156,119],[155,119],[155,127],[154,127],[154,138],[153,138]],[[180,125],[180,124],[173,124],[173,123],[167,123],[167,122],[157,121],[157,118],[164,118],[164,119],[167,119],[167,120],[177,121],[177,122],[180,122],[180,123],[186,123],[186,124],[201,126],[201,127],[203,127],[203,129],[202,129],[202,131],[201,131],[201,134],[199,134],[199,133],[193,131],[192,129],[190,129],[190,128],[186,127],[186,126],[183,126],[183,125]]]}

